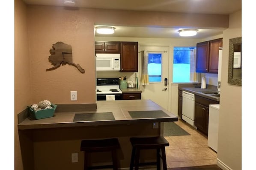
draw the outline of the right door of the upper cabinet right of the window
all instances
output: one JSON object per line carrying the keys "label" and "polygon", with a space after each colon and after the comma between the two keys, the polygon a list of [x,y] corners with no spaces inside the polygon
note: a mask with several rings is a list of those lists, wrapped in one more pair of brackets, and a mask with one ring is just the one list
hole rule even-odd
{"label": "right door of the upper cabinet right of the window", "polygon": [[222,47],[222,38],[210,41],[209,72],[218,73],[219,47]]}

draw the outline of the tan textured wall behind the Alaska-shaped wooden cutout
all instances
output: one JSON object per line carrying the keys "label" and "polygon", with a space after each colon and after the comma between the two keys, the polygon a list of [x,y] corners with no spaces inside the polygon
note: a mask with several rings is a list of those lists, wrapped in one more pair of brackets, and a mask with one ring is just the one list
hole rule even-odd
{"label": "tan textured wall behind the Alaska-shaped wooden cutout", "polygon": [[[94,23],[90,10],[63,10],[63,7],[28,6],[28,30],[33,103],[50,100],[55,104],[95,103]],[[62,41],[72,47],[73,62],[46,72],[52,45]],[[77,101],[70,101],[77,91]]]}

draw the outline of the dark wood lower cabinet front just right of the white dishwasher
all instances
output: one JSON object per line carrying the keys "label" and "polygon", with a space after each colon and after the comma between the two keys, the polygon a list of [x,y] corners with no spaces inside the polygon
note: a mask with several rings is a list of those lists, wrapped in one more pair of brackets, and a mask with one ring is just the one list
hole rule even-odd
{"label": "dark wood lower cabinet front just right of the white dishwasher", "polygon": [[209,109],[202,104],[195,103],[195,126],[202,133],[208,134]]}

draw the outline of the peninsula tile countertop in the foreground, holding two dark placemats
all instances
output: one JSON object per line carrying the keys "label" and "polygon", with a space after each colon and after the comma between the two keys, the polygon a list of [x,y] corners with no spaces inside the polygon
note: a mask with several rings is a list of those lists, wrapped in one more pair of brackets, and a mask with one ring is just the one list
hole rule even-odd
{"label": "peninsula tile countertop in the foreground, holding two dark placemats", "polygon": [[[162,110],[170,117],[148,117],[148,118],[131,118],[129,111],[149,111]],[[76,113],[100,113],[113,112],[115,120],[99,121],[73,121]],[[18,124],[19,130],[45,129],[59,127],[81,127],[81,126],[99,126],[115,124],[133,124],[147,122],[168,122],[178,121],[178,117],[160,107],[151,100],[120,100],[120,101],[97,101],[97,111],[86,112],[55,112],[51,118],[30,120],[26,118]]]}

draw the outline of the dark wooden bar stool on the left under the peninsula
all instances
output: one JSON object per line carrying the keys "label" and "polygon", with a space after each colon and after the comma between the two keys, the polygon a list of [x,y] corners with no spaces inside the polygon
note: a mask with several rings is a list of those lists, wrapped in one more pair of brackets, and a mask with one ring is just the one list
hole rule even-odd
{"label": "dark wooden bar stool on the left under the peninsula", "polygon": [[[118,169],[116,151],[119,148],[119,141],[117,138],[109,139],[97,139],[97,140],[82,140],[80,150],[84,151],[84,170],[92,169],[103,169],[103,168],[113,168],[113,170]],[[102,165],[102,166],[89,166],[89,153],[93,152],[105,152],[110,151],[112,154],[113,164]]]}

